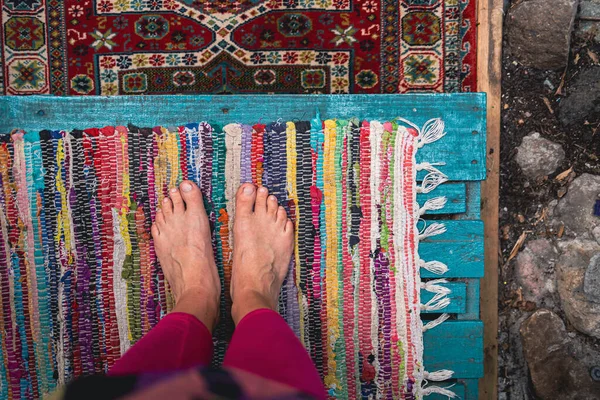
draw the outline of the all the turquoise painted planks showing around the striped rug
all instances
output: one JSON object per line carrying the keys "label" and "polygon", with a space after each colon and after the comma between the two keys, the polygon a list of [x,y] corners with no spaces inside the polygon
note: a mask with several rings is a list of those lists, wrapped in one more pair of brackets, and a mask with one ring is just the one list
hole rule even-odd
{"label": "all the turquoise painted planks showing around the striped rug", "polygon": [[[450,182],[417,202],[445,196],[442,210],[428,212],[447,227],[445,234],[425,239],[419,253],[425,261],[438,260],[450,268],[444,279],[451,303],[443,312],[451,319],[424,334],[427,371],[450,369],[453,379],[433,383],[448,387],[460,399],[477,398],[483,376],[483,324],[479,320],[479,278],[483,277],[483,223],[480,219],[481,185],[485,179],[486,99],[484,94],[407,95],[263,95],[263,96],[119,96],[0,97],[0,133],[19,127],[25,131],[72,129],[106,125],[177,126],[209,120],[221,126],[238,121],[273,121],[279,118],[392,119],[403,117],[422,126],[440,117],[446,125],[443,140],[425,146],[417,161],[440,162]],[[424,173],[418,174],[422,179]],[[443,220],[439,220],[443,218]],[[431,223],[431,222],[428,222]],[[424,281],[440,278],[421,271]],[[422,301],[432,294],[421,292]],[[427,313],[424,313],[427,314]],[[424,319],[436,314],[424,315]],[[432,395],[428,400],[446,399]]]}

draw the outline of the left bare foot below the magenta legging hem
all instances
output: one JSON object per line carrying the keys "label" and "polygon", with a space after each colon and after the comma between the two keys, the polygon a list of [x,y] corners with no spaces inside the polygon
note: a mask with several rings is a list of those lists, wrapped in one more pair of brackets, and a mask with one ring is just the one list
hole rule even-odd
{"label": "left bare foot below the magenta legging hem", "polygon": [[194,315],[212,332],[221,283],[202,193],[191,181],[169,192],[152,224],[156,255],[175,299],[173,312]]}

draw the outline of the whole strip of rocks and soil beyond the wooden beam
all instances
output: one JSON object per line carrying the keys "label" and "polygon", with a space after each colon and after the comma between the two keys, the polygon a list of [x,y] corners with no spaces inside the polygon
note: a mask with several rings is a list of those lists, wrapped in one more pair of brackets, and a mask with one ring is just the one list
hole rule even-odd
{"label": "whole strip of rocks and soil beyond the wooden beam", "polygon": [[499,398],[600,399],[600,0],[506,2]]}

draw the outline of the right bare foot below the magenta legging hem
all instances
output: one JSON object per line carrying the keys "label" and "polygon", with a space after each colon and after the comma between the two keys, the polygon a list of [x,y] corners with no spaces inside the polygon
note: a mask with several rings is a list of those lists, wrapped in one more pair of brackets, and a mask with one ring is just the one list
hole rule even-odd
{"label": "right bare foot below the magenta legging hem", "polygon": [[231,272],[231,316],[236,325],[259,308],[277,310],[293,238],[294,224],[267,188],[257,190],[245,183],[238,189]]}

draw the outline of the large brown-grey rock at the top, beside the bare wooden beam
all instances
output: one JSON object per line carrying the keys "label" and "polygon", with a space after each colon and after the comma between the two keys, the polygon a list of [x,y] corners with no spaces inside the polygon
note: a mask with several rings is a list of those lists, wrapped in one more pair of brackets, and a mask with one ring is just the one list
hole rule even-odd
{"label": "large brown-grey rock at the top, beside the bare wooden beam", "polygon": [[[513,2],[514,3],[514,2]],[[508,12],[508,51],[526,66],[567,66],[579,0],[526,0]]]}

